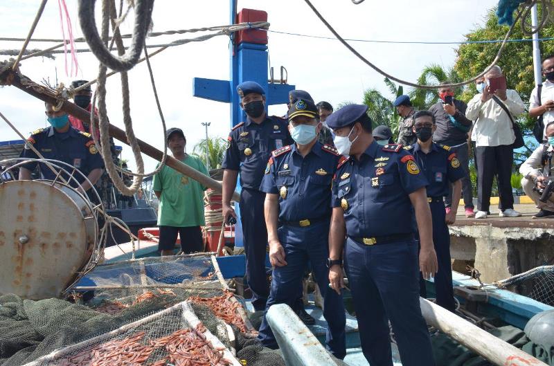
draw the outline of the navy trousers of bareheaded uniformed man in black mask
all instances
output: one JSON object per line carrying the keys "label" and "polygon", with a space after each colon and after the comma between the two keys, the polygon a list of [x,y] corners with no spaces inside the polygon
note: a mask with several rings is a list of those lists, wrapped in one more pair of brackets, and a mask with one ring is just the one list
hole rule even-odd
{"label": "navy trousers of bareheaded uniformed man in black mask", "polygon": [[[445,222],[445,205],[442,202],[429,203],[433,217],[433,243],[437,253],[438,272],[435,275],[437,304],[454,311],[454,289],[452,289],[452,263],[450,260],[450,232]],[[427,298],[425,280],[420,273],[420,295]]]}

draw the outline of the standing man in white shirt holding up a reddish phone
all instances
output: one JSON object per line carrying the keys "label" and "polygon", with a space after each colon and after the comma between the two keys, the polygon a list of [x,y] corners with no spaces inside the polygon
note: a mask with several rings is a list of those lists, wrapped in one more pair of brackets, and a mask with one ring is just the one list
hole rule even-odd
{"label": "standing man in white shirt holding up a reddish phone", "polygon": [[[512,194],[512,165],[515,133],[512,120],[524,111],[517,91],[506,89],[506,77],[500,66],[485,75],[487,86],[467,103],[465,116],[475,120],[478,209],[476,219],[486,219],[490,208],[492,180],[497,174],[502,210],[500,217],[518,217]],[[510,113],[510,114],[508,114]],[[510,116],[511,115],[511,116]]]}

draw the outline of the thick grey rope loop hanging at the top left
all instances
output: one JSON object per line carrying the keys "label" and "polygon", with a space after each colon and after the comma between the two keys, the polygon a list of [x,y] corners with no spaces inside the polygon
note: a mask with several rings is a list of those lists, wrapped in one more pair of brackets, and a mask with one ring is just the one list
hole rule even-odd
{"label": "thick grey rope loop hanging at the top left", "polygon": [[[87,39],[87,44],[89,44],[92,52],[103,65],[114,71],[129,71],[139,60],[145,44],[146,34],[148,33],[152,21],[154,1],[136,0],[135,22],[131,46],[128,53],[124,53],[123,55],[120,54],[119,57],[111,55],[109,49],[102,41],[102,39],[108,39],[107,30],[102,29],[102,39],[100,39],[98,35],[94,17],[95,3],[96,0],[79,1],[79,21],[84,38]],[[102,13],[104,14],[103,17],[109,17],[109,9],[106,10],[106,12],[102,10]],[[102,26],[104,21],[107,22],[107,20],[102,19]]]}

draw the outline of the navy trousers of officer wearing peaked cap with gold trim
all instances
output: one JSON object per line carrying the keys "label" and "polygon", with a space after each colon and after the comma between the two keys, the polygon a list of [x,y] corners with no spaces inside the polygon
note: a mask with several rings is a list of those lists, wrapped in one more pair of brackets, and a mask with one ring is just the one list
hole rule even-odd
{"label": "navy trousers of officer wearing peaked cap with gold trim", "polygon": [[[286,266],[276,267],[271,279],[271,292],[267,309],[274,304],[288,304],[293,307],[298,298],[298,284],[304,276],[308,261],[323,295],[323,316],[328,328],[325,337],[326,348],[337,358],[346,356],[346,315],[342,296],[329,288],[329,270],[325,262],[329,256],[329,222],[321,221],[304,228],[281,226],[279,241],[285,249]],[[264,318],[258,338],[265,347],[278,347],[275,336]]]}

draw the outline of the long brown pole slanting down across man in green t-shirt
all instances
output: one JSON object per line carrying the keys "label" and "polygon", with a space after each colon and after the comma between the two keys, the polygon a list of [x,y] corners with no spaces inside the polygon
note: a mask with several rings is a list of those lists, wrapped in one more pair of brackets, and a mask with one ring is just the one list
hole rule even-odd
{"label": "long brown pole slanting down across man in green t-shirt", "polygon": [[[35,82],[31,82],[27,77],[20,75],[19,73],[0,75],[0,85],[10,84],[15,86],[17,89],[21,89],[25,93],[33,95],[33,97],[35,98],[43,100],[44,102],[53,105],[57,105],[60,102],[60,100],[57,100],[55,98],[55,94],[51,91],[51,89],[36,84]],[[91,115],[88,111],[85,111],[84,109],[78,107],[72,102],[68,102],[67,100],[65,100],[61,104],[61,110],[71,114],[72,116],[75,116],[76,118],[79,118],[80,120],[88,121],[91,119]],[[96,116],[94,116],[94,123],[96,126],[98,126],[98,118]],[[109,124],[109,136],[116,138],[125,145],[129,145],[129,141],[127,141],[125,131],[114,125],[111,125],[111,123]],[[143,154],[148,155],[157,161],[161,161],[163,152],[161,152],[159,149],[156,149],[152,145],[145,143],[142,140],[137,139],[137,142],[139,143],[139,147],[141,147],[141,152],[143,152]],[[197,170],[194,170],[188,165],[181,163],[181,161],[178,161],[172,156],[167,156],[166,165],[177,170],[177,172],[179,173],[189,176],[190,178],[194,179],[195,181],[206,187],[216,190],[217,192],[222,192],[222,184],[220,182],[215,181],[215,179],[211,179],[209,176],[205,176],[204,174],[198,172]],[[234,201],[238,202],[240,201],[240,194],[238,194],[238,192],[233,192],[232,198]]]}

